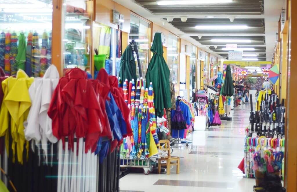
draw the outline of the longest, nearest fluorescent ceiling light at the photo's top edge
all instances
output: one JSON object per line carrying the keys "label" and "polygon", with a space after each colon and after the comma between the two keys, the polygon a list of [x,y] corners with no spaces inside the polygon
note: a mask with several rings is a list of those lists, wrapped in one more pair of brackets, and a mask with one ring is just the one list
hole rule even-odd
{"label": "longest, nearest fluorescent ceiling light at the photo's top edge", "polygon": [[158,5],[191,5],[211,3],[231,3],[233,0],[183,0],[183,1],[157,1]]}

